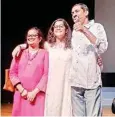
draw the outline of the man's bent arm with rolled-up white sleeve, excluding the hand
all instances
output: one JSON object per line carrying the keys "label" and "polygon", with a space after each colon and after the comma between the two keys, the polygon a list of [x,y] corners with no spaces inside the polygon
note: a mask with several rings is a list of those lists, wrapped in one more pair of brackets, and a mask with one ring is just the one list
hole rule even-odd
{"label": "man's bent arm with rolled-up white sleeve, excluding the hand", "polygon": [[104,27],[101,24],[95,26],[96,34],[94,35],[86,27],[83,28],[82,32],[89,39],[89,41],[96,47],[97,54],[104,53],[108,48],[107,36]]}

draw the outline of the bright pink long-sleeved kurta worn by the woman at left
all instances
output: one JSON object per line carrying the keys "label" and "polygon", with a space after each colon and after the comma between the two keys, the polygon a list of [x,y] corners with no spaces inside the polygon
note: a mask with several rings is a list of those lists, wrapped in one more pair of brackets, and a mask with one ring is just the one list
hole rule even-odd
{"label": "bright pink long-sleeved kurta worn by the woman at left", "polygon": [[37,94],[34,103],[21,97],[15,91],[13,102],[13,116],[43,116],[45,91],[48,78],[49,57],[46,50],[39,50],[35,58],[28,64],[28,49],[24,50],[20,60],[13,59],[10,67],[10,78],[13,85],[21,82],[27,91],[38,87],[41,91]]}

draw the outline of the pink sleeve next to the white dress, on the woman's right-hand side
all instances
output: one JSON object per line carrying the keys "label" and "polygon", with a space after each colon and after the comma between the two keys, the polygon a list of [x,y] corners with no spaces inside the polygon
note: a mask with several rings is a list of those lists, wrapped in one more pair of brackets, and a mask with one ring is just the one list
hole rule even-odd
{"label": "pink sleeve next to the white dress, on the woman's right-hand side", "polygon": [[47,80],[48,80],[48,68],[49,68],[49,54],[48,52],[45,53],[45,58],[44,58],[44,73],[43,76],[36,86],[39,90],[45,92],[46,87],[47,87]]}

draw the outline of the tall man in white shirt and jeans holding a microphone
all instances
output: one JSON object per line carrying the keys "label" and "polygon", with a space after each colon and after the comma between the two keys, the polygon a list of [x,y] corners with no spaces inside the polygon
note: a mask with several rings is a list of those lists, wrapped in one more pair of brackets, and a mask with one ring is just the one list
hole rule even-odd
{"label": "tall man in white shirt and jeans holding a microphone", "polygon": [[71,94],[73,116],[101,116],[101,69],[97,57],[107,50],[104,27],[89,21],[85,4],[72,7]]}

